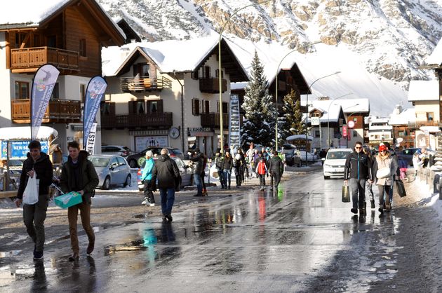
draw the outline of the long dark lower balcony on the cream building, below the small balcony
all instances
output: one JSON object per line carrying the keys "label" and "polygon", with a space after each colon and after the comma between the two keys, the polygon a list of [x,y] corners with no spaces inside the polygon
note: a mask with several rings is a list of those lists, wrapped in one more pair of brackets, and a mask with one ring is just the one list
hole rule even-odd
{"label": "long dark lower balcony on the cream building, below the small balcony", "polygon": [[116,114],[102,115],[101,127],[112,128],[163,128],[167,129],[173,125],[172,113],[163,112],[156,114]]}

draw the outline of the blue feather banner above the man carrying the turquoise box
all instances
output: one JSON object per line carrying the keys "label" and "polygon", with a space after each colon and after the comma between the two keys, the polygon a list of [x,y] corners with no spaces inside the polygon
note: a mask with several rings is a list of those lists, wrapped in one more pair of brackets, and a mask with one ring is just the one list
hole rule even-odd
{"label": "blue feather banner above the man carrying the turquoise box", "polygon": [[[88,83],[83,109],[83,149],[85,150],[88,149],[87,144],[91,135],[92,125],[95,122],[95,116],[97,116],[101,98],[105,94],[106,87],[107,83],[101,76],[94,76]],[[93,136],[95,142],[95,133],[93,133]]]}

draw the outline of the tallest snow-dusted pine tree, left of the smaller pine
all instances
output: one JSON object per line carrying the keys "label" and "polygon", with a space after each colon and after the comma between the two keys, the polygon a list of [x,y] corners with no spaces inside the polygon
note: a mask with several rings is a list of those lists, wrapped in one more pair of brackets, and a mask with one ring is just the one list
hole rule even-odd
{"label": "tallest snow-dusted pine tree, left of the smaller pine", "polygon": [[272,147],[277,111],[273,97],[269,95],[264,67],[256,51],[250,75],[242,105],[243,110],[246,111],[246,119],[241,128],[241,142],[243,145],[253,142],[262,144],[264,147]]}

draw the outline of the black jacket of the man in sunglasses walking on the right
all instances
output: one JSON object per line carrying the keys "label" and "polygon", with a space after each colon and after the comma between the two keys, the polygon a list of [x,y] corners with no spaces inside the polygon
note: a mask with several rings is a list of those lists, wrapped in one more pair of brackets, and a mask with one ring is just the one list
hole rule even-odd
{"label": "black jacket of the man in sunglasses walking on the right", "polygon": [[370,158],[362,151],[358,153],[354,151],[347,156],[344,168],[344,180],[349,178],[365,180],[371,178],[370,173]]}

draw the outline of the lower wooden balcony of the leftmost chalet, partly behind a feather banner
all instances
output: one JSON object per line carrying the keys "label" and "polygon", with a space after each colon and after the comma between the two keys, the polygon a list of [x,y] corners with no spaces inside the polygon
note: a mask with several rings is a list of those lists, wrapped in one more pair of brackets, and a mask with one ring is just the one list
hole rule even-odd
{"label": "lower wooden balcony of the leftmost chalet, partly behind a feather banner", "polygon": [[[12,100],[13,123],[30,123],[31,100]],[[79,123],[81,122],[81,102],[74,100],[49,101],[43,123]]]}

